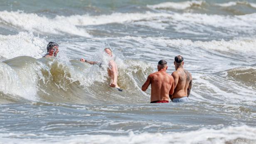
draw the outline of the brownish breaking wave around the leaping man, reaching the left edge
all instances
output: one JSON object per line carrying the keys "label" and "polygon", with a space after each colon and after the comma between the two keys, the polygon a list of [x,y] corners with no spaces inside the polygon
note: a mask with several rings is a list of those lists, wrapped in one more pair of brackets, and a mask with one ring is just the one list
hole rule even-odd
{"label": "brownish breaking wave around the leaping man, reaching the left edge", "polygon": [[[0,102],[19,98],[53,103],[138,103],[148,98],[140,90],[141,81],[153,71],[142,61],[119,61],[118,85],[126,96],[111,88],[107,64],[89,66],[80,61],[34,59],[20,56],[0,62]],[[142,93],[142,95],[134,95]],[[115,95],[115,96],[113,96]],[[17,99],[16,98],[16,99]]]}

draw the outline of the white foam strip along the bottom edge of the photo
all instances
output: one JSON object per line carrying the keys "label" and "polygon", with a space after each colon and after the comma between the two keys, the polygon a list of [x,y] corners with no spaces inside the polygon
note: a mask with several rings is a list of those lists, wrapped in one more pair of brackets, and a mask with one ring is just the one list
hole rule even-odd
{"label": "white foam strip along the bottom edge of the photo", "polygon": [[[117,133],[119,131],[116,131]],[[254,144],[256,142],[256,128],[248,126],[226,127],[222,129],[199,129],[190,132],[170,133],[142,133],[129,132],[128,136],[111,135],[72,135],[49,136],[47,134],[37,135],[39,139],[26,139],[24,134],[10,133],[1,134],[2,142],[5,144]],[[29,133],[34,137],[35,134]],[[10,138],[8,138],[10,137]],[[11,140],[10,140],[11,139]],[[47,140],[47,141],[45,141]]]}

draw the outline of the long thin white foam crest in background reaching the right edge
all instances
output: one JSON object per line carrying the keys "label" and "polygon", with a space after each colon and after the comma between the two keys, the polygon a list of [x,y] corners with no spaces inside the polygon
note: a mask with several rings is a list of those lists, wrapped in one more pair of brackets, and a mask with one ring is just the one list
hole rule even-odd
{"label": "long thin white foam crest in background reaching the right edge", "polygon": [[[245,18],[245,19],[243,19]],[[205,24],[211,25],[213,27],[230,27],[236,29],[243,27],[255,27],[256,13],[242,15],[242,16],[224,16],[224,15],[207,15],[207,14],[194,14],[194,13],[113,13],[111,15],[99,15],[99,16],[89,16],[89,15],[73,15],[70,17],[57,16],[57,20],[67,21],[79,26],[87,25],[99,25],[99,24],[109,24],[109,23],[124,23],[124,22],[135,22],[139,20],[152,21],[158,20],[156,22],[162,23],[163,21],[169,21],[170,24],[178,24],[180,22],[185,22],[186,24]],[[155,25],[155,21],[153,21]],[[143,25],[143,24],[142,24]],[[145,23],[149,26],[149,23]],[[160,24],[161,25],[161,24]],[[166,26],[166,25],[165,25]],[[154,26],[156,27],[156,26]],[[162,29],[162,27],[161,27]]]}

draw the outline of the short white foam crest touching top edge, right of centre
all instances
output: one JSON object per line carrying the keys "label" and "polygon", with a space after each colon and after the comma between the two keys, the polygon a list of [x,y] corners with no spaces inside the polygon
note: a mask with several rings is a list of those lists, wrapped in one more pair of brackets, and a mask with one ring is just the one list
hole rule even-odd
{"label": "short white foam crest touching top edge, right of centre", "polygon": [[185,10],[192,6],[201,6],[203,2],[204,1],[201,1],[201,0],[199,1],[192,0],[192,1],[184,1],[184,2],[162,2],[157,5],[148,5],[148,7],[154,8],[154,9],[172,8],[177,10]]}

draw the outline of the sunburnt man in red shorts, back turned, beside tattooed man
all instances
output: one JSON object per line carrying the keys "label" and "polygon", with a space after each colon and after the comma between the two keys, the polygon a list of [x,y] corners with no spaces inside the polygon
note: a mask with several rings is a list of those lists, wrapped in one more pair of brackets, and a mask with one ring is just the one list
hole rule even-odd
{"label": "sunburnt man in red shorts, back turned, beside tattooed man", "polygon": [[169,103],[169,97],[174,92],[173,77],[166,73],[167,62],[158,62],[158,72],[151,73],[147,81],[142,85],[141,90],[146,91],[151,84],[150,103]]}

